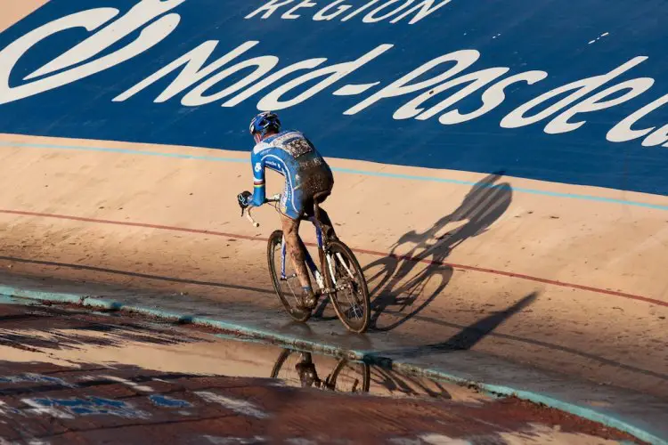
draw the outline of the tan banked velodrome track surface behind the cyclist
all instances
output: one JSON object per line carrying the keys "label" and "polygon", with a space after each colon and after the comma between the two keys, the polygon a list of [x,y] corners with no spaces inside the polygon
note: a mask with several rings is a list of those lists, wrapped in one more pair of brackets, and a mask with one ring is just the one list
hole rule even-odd
{"label": "tan banked velodrome track surface behind the cyclist", "polygon": [[[40,3],[5,0],[0,28]],[[248,152],[2,134],[0,159],[1,266],[183,292],[193,307],[275,305],[264,239],[278,219],[259,210],[255,230],[235,203],[252,185]],[[378,328],[435,343],[532,295],[469,347],[668,398],[668,198],[330,162],[326,208],[379,298]]]}

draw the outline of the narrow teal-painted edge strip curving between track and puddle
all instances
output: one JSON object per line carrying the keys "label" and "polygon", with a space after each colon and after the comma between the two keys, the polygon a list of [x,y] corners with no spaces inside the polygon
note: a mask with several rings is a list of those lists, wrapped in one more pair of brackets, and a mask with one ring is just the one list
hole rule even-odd
{"label": "narrow teal-painted edge strip curving between track and puddle", "polygon": [[638,438],[640,441],[656,445],[668,445],[668,437],[659,437],[655,433],[647,431],[645,428],[638,425],[633,425],[630,421],[620,416],[615,416],[598,409],[592,409],[582,405],[574,404],[569,401],[562,401],[550,395],[542,394],[540,392],[525,391],[514,388],[509,385],[501,384],[487,384],[484,381],[477,379],[470,379],[451,373],[441,368],[426,368],[411,363],[407,360],[396,360],[383,356],[379,353],[361,351],[354,349],[347,349],[334,344],[326,344],[319,341],[311,341],[299,338],[297,336],[283,335],[269,330],[253,328],[244,326],[240,323],[232,323],[224,320],[215,320],[207,317],[197,317],[193,315],[168,312],[160,309],[151,309],[148,307],[128,305],[119,303],[110,299],[95,298],[89,295],[78,295],[72,293],[57,293],[36,291],[31,289],[24,289],[20,287],[0,286],[0,295],[22,298],[28,300],[35,300],[44,303],[73,303],[94,308],[112,311],[128,311],[136,312],[143,315],[157,317],[165,320],[175,320],[180,323],[191,323],[195,325],[207,326],[211,328],[218,328],[224,331],[232,332],[241,336],[240,340],[244,340],[243,336],[250,337],[257,340],[263,340],[271,344],[279,344],[288,347],[301,348],[313,352],[322,352],[338,357],[346,357],[349,360],[360,360],[380,367],[395,368],[397,370],[411,373],[418,376],[428,376],[434,379],[441,379],[450,381],[455,384],[467,385],[475,387],[479,391],[490,393],[497,396],[515,396],[518,399],[531,401],[536,404],[542,404],[552,409],[559,409],[572,414],[577,417],[582,417],[607,427],[616,428],[624,433],[629,433]]}

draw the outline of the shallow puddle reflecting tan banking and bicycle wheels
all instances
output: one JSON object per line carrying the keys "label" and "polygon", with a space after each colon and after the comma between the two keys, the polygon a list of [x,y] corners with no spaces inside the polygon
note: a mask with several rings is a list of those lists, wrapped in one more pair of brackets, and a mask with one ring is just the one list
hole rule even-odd
{"label": "shallow puddle reflecting tan banking and bicycle wheels", "polygon": [[0,301],[4,303],[0,305],[0,357],[7,361],[65,367],[122,364],[202,376],[270,377],[289,386],[389,397],[490,399],[456,384],[315,352],[242,342],[206,329],[121,313],[8,304],[13,302]]}

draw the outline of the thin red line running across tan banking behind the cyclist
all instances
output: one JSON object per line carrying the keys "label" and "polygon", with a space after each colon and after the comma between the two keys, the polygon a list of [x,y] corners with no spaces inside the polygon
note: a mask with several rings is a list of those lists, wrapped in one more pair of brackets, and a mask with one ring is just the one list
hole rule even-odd
{"label": "thin red line running across tan banking behind the cyclist", "polygon": [[[227,233],[224,231],[205,231],[202,229],[188,229],[185,227],[173,227],[173,226],[168,226],[168,225],[160,225],[160,224],[150,224],[150,223],[132,223],[132,222],[125,222],[125,221],[113,221],[113,220],[102,220],[102,219],[95,219],[95,218],[86,218],[83,216],[72,216],[68,214],[44,214],[44,213],[38,213],[38,212],[25,212],[21,210],[5,210],[5,209],[0,209],[0,214],[19,214],[22,216],[38,216],[38,217],[43,217],[43,218],[53,218],[53,219],[61,219],[61,220],[69,220],[69,221],[81,221],[84,223],[98,223],[98,224],[113,224],[113,225],[121,225],[121,226],[128,226],[128,227],[143,227],[146,229],[159,229],[163,231],[182,231],[182,232],[187,232],[187,233],[197,233],[201,235],[213,235],[216,237],[228,237],[228,238],[238,238],[238,239],[249,239],[252,241],[266,241],[267,239],[262,238],[262,237],[253,237],[253,236],[248,236],[248,235],[239,235],[237,233]],[[305,243],[308,246],[315,246],[313,243]],[[415,256],[408,256],[408,255],[394,255],[394,254],[387,254],[384,252],[377,252],[375,250],[367,250],[367,249],[361,249],[361,248],[354,248],[354,252],[360,253],[360,254],[367,254],[367,255],[375,255],[375,256],[392,256],[396,259],[400,260],[406,260],[406,261],[412,261],[416,263],[427,263],[427,264],[434,264],[434,265],[440,265],[440,266],[449,266],[452,268],[459,268],[459,269],[464,269],[466,271],[477,271],[477,272],[483,272],[483,273],[491,273],[493,275],[501,275],[503,277],[510,277],[510,278],[517,278],[517,279],[527,279],[530,281],[536,281],[539,283],[544,283],[544,284],[550,284],[552,286],[559,286],[559,287],[569,287],[572,289],[579,289],[579,290],[586,290],[589,292],[596,292],[598,294],[604,294],[604,295],[614,295],[614,296],[620,296],[623,298],[628,298],[630,300],[636,300],[644,303],[652,303],[656,304],[659,306],[665,306],[668,307],[668,302],[664,302],[661,300],[656,300],[655,298],[649,298],[648,296],[643,296],[643,295],[633,295],[633,294],[627,294],[625,292],[618,292],[615,290],[608,290],[608,289],[601,289],[599,287],[590,287],[590,286],[582,286],[579,284],[574,284],[574,283],[566,283],[564,281],[558,281],[555,279],[542,279],[540,277],[532,277],[531,275],[525,275],[522,273],[515,273],[515,272],[509,272],[509,271],[496,271],[494,269],[485,269],[482,267],[476,267],[476,266],[468,266],[466,264],[458,264],[458,263],[445,263],[441,261],[433,261],[433,260],[427,260],[427,259],[421,259],[417,258]]]}

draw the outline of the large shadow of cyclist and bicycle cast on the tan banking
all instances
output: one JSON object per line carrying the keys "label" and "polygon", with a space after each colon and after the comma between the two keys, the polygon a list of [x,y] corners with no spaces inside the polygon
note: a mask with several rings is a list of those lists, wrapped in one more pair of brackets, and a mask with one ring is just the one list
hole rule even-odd
{"label": "large shadow of cyclist and bicycle cast on the tan banking", "polygon": [[[397,328],[443,292],[452,278],[452,267],[444,263],[452,249],[488,231],[508,209],[512,188],[509,182],[500,182],[504,173],[485,176],[451,214],[427,231],[404,233],[389,255],[363,268],[369,291],[375,296],[371,302],[372,328]],[[465,223],[441,234],[448,224],[462,222]],[[407,251],[405,247],[409,247]],[[421,268],[422,264],[426,267]]]}

